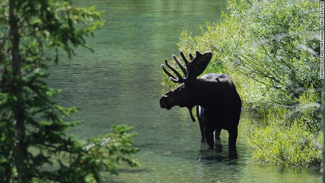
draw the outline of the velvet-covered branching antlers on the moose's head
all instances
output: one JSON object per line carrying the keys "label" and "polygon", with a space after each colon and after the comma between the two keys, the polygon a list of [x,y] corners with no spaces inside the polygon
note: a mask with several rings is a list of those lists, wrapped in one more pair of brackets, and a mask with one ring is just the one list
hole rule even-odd
{"label": "velvet-covered branching antlers on the moose's head", "polygon": [[187,58],[185,57],[184,53],[180,52],[184,62],[185,67],[179,62],[179,60],[176,58],[176,55],[173,54],[173,58],[176,62],[176,64],[179,66],[179,68],[184,73],[184,77],[173,67],[171,66],[167,59],[165,59],[166,66],[171,69],[177,77],[175,77],[173,74],[171,74],[165,67],[164,64],[161,64],[161,68],[163,68],[164,72],[170,77],[170,80],[175,83],[186,83],[190,82],[193,79],[196,79],[198,76],[200,76],[204,70],[207,68],[211,58],[212,58],[212,52],[208,51],[205,53],[200,53],[200,51],[196,51],[196,57],[193,58],[193,55],[189,53],[189,57],[191,62],[188,62]]}

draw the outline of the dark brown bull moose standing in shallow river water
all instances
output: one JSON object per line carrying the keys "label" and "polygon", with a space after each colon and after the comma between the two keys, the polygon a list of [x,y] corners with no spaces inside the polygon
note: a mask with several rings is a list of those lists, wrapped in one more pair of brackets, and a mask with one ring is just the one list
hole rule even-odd
{"label": "dark brown bull moose standing in shallow river water", "polygon": [[177,65],[184,73],[184,77],[171,66],[165,59],[166,66],[172,70],[177,77],[171,74],[164,64],[161,65],[164,72],[175,83],[181,83],[175,89],[165,93],[160,98],[160,107],[171,109],[174,106],[187,107],[191,119],[195,121],[192,108],[197,106],[202,142],[213,148],[214,139],[220,139],[221,129],[229,133],[229,154],[237,158],[236,140],[238,135],[238,124],[241,113],[241,99],[237,93],[233,80],[226,74],[206,74],[197,78],[207,68],[212,52],[200,53],[196,51],[196,57],[189,54],[191,62],[188,62],[184,53],[180,52],[185,67],[173,55]]}

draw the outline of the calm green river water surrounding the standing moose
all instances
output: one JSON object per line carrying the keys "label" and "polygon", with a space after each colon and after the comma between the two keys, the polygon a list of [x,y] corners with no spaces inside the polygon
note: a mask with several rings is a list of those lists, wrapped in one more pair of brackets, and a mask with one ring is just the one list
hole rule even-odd
{"label": "calm green river water surrounding the standing moose", "polygon": [[104,172],[107,182],[320,182],[317,171],[255,164],[241,125],[238,160],[229,160],[228,133],[221,132],[218,150],[209,150],[187,109],[159,107],[159,97],[168,89],[161,85],[160,64],[179,53],[183,29],[199,35],[200,26],[227,12],[226,0],[73,2],[106,11],[106,24],[88,38],[94,53],[75,49],[72,59],[62,57],[59,65],[50,66],[50,85],[62,89],[58,103],[81,107],[72,120],[84,123],[71,133],[79,139],[98,137],[118,124],[138,133],[135,146],[141,151],[134,159],[141,167],[122,164],[119,175]]}

